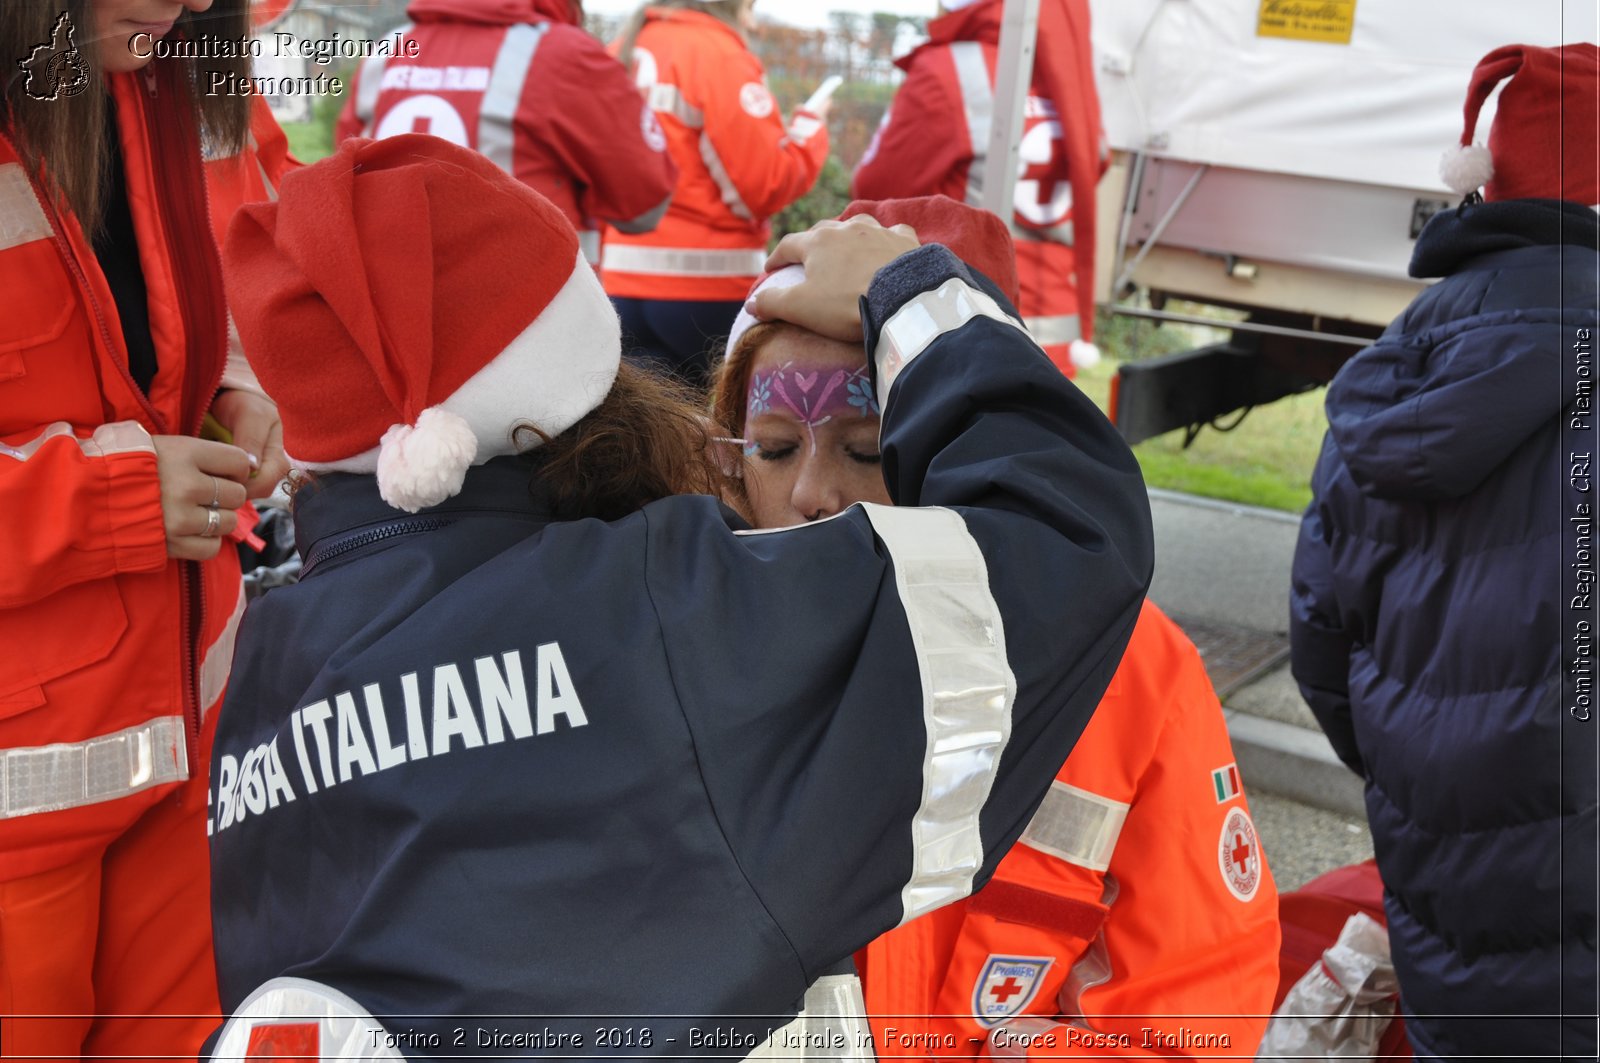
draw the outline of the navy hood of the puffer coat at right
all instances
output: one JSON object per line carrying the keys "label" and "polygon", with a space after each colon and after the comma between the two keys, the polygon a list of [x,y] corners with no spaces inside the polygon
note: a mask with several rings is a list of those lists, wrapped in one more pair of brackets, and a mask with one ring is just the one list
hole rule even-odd
{"label": "navy hood of the puffer coat at right", "polygon": [[[1565,267],[1552,269],[1550,245]],[[1459,498],[1573,403],[1579,381],[1560,373],[1562,351],[1534,327],[1592,323],[1579,282],[1597,247],[1595,213],[1558,200],[1480,203],[1429,221],[1411,274],[1451,282],[1418,296],[1328,387],[1328,432],[1363,493]],[[1557,378],[1560,389],[1523,386]]]}

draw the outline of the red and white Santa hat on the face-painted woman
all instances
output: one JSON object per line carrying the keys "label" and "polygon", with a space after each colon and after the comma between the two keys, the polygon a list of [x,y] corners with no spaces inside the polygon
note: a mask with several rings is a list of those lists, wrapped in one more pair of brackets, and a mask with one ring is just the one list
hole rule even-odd
{"label": "red and white Santa hat on the face-painted woman", "polygon": [[[979,271],[995,282],[1000,291],[1018,301],[1021,285],[1016,279],[1016,247],[1011,243],[1011,232],[997,215],[966,203],[958,203],[947,195],[918,195],[901,200],[854,200],[838,216],[848,221],[856,215],[867,215],[880,226],[910,226],[917,231],[917,239],[923,243],[942,243],[950,248],[958,259]],[[782,269],[757,279],[750,288],[750,296],[770,288],[789,288],[805,280],[805,269],[800,266],[784,266]],[[739,339],[755,325],[757,320],[749,311],[739,311],[728,335],[728,352],[739,346]]]}

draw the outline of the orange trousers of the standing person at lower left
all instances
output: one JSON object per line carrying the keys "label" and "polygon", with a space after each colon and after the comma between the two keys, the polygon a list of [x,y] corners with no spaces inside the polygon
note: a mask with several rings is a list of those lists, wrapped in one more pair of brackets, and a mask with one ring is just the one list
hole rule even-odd
{"label": "orange trousers of the standing person at lower left", "polygon": [[99,856],[0,882],[0,1055],[192,1063],[221,1021],[205,772]]}

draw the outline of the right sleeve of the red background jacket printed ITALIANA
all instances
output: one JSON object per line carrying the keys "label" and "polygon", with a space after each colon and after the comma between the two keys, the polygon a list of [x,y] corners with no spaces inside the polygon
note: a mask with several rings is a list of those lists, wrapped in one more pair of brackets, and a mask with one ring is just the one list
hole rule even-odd
{"label": "right sleeve of the red background jacket printed ITALIANA", "polygon": [[[598,40],[566,26],[550,27],[536,62],[550,66],[528,78],[518,120],[536,123],[534,134],[587,186],[584,213],[616,224],[664,208],[678,168],[627,69]],[[552,107],[552,85],[582,85],[584,91],[562,93]]]}

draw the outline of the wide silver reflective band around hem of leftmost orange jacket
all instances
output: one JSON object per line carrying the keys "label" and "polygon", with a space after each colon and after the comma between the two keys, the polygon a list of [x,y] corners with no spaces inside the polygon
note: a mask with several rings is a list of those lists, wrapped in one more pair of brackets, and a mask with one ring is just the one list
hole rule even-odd
{"label": "wide silver reflective band around hem of leftmost orange jacket", "polygon": [[94,805],[186,778],[181,716],[86,741],[6,749],[0,754],[0,820]]}

